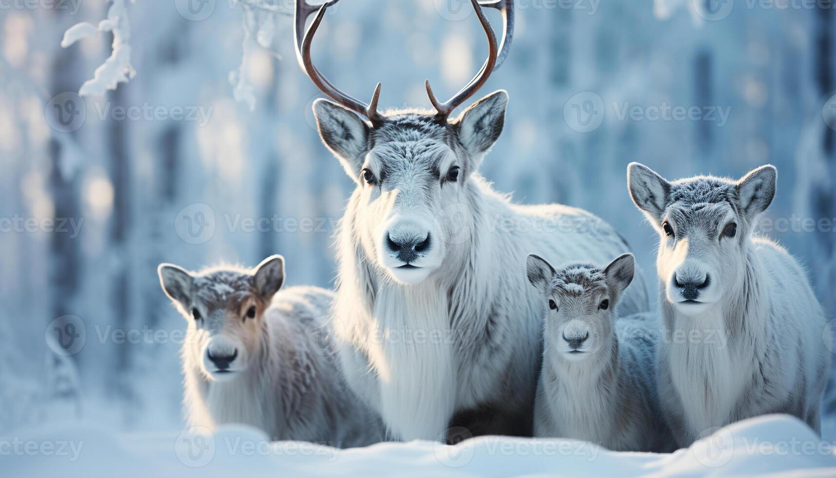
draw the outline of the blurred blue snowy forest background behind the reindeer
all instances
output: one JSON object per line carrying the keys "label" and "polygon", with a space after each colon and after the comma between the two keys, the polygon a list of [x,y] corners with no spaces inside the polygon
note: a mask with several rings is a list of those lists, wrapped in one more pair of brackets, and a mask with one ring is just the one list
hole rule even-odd
{"label": "blurred blue snowy forest background behind the reindeer", "polygon": [[[160,290],[160,262],[256,265],[278,253],[288,284],[333,285],[331,234],[353,182],[315,131],[320,94],[293,53],[293,2],[117,2],[135,75],[63,112],[113,43],[90,26],[62,48],[64,31],[99,23],[110,3],[0,9],[0,429],[181,427],[185,321]],[[836,218],[832,8],[518,0],[511,54],[477,94],[511,97],[482,173],[517,201],[597,213],[652,278],[655,233],[630,202],[628,162],[669,178],[772,163],[776,222],[764,232],[803,260],[833,316],[836,224],[819,221]],[[381,81],[381,105],[394,107],[429,107],[426,78],[451,95],[486,51],[458,0],[342,0],[314,42],[336,85],[367,100]],[[665,116],[668,106],[700,114]],[[78,108],[80,123],[56,123]],[[589,126],[576,114],[597,116]],[[52,331],[81,345],[64,350],[45,340]],[[833,415],[832,389],[827,402]]]}

